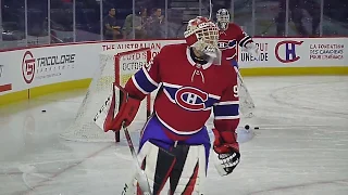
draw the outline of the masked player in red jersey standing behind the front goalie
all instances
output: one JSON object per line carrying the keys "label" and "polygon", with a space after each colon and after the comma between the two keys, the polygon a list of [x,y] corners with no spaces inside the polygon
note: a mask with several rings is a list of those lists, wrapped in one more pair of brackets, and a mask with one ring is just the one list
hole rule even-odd
{"label": "masked player in red jersey standing behind the front goalie", "polygon": [[243,31],[238,25],[229,22],[229,13],[226,9],[217,10],[216,25],[220,29],[219,49],[222,51],[222,56],[229,61],[233,66],[239,68],[237,63],[238,46],[245,48],[253,57],[260,55],[259,48],[252,38]]}

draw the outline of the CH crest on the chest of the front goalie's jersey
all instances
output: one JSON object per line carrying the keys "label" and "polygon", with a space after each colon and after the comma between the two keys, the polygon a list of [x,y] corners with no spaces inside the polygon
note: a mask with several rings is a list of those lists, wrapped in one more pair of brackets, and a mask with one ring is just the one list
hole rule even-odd
{"label": "CH crest on the chest of the front goalie's jersey", "polygon": [[204,109],[207,100],[208,93],[191,87],[183,87],[175,93],[175,102],[188,110]]}

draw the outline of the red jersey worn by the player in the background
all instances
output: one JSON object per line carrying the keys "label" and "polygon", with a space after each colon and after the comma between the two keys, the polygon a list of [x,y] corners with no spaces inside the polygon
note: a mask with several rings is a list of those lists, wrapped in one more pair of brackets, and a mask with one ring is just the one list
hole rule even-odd
{"label": "red jersey worn by the player in the background", "polygon": [[228,61],[237,60],[238,44],[244,48],[249,42],[252,42],[251,37],[234,23],[229,23],[226,30],[219,31],[219,49]]}

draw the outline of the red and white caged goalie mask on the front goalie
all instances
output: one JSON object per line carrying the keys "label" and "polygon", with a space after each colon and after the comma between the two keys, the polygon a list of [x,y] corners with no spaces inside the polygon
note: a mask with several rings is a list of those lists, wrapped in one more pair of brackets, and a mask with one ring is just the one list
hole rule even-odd
{"label": "red and white caged goalie mask on the front goalie", "polygon": [[188,47],[192,47],[211,57],[216,57],[219,28],[212,21],[202,16],[190,20],[184,36]]}

